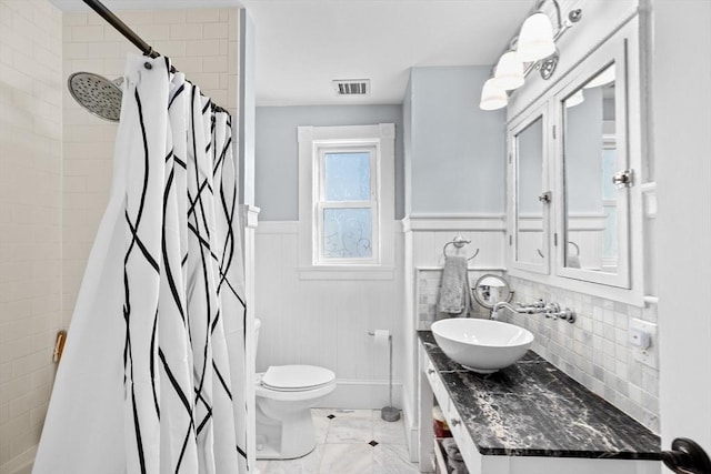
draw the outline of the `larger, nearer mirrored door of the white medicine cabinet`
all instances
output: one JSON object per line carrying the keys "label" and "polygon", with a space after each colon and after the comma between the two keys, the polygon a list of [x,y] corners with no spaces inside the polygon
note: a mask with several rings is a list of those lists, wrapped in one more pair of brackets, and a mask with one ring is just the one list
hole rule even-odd
{"label": "larger, nearer mirrored door of the white medicine cabinet", "polygon": [[553,98],[561,276],[630,288],[630,171],[627,41],[587,58]]}

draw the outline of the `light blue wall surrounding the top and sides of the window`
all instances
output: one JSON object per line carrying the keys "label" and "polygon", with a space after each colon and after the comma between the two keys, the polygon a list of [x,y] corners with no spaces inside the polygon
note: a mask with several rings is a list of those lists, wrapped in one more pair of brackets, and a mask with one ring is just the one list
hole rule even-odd
{"label": "light blue wall surrounding the top and sides of the window", "polygon": [[404,215],[401,105],[257,108],[256,205],[261,221],[299,220],[297,127],[395,124],[395,219]]}

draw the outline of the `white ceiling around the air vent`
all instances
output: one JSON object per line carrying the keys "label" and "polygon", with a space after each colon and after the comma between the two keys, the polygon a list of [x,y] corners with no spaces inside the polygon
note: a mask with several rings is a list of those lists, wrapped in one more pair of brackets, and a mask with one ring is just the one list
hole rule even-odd
{"label": "white ceiling around the air vent", "polygon": [[[63,10],[80,0],[51,0]],[[401,103],[412,67],[492,64],[534,0],[240,0],[256,26],[258,105]],[[236,0],[104,0],[132,8],[236,6]],[[120,14],[119,14],[120,17]],[[369,97],[337,97],[333,79],[370,79]]]}

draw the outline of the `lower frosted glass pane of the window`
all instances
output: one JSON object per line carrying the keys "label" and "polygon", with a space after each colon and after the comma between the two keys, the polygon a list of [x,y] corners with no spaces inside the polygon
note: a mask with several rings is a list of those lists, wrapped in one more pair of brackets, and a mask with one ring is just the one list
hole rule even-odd
{"label": "lower frosted glass pane of the window", "polygon": [[324,259],[369,259],[372,256],[371,240],[370,208],[323,210]]}

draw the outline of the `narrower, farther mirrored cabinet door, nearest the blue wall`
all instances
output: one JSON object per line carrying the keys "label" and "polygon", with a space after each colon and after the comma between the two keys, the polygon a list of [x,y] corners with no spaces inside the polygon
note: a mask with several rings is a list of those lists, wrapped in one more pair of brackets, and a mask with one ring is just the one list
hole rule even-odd
{"label": "narrower, farther mirrored cabinet door, nearest the blue wall", "polygon": [[534,109],[509,127],[510,266],[549,273],[552,192],[548,185],[548,113]]}

